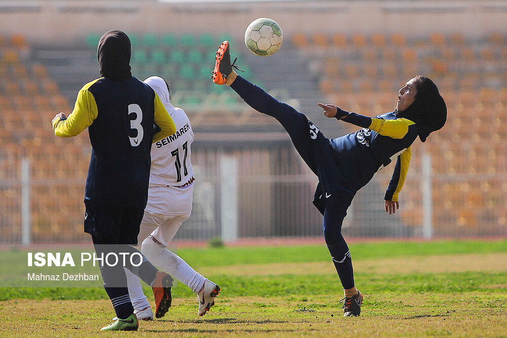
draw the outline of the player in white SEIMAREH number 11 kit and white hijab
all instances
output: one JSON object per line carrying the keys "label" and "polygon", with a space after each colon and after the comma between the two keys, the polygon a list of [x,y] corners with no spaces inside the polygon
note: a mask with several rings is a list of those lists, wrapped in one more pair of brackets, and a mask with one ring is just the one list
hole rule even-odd
{"label": "player in white SEIMAREH number 11 kit and white hijab", "polygon": [[[192,211],[195,178],[190,145],[194,140],[194,132],[185,111],[169,103],[169,86],[164,79],[153,76],[144,80],[144,83],[160,97],[176,125],[176,133],[152,145],[148,203],[144,209],[137,243],[142,242],[141,252],[155,266],[186,284],[197,294],[198,314],[202,316],[214,305],[214,297],[220,293],[220,287],[166,249]],[[137,318],[153,319],[139,277],[129,271],[127,282]]]}

